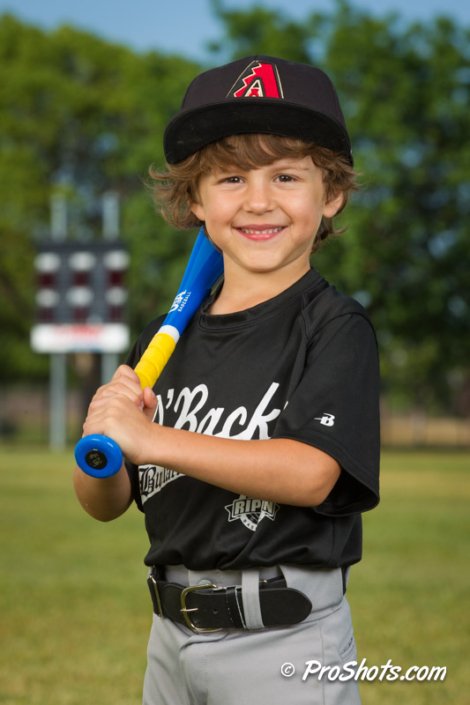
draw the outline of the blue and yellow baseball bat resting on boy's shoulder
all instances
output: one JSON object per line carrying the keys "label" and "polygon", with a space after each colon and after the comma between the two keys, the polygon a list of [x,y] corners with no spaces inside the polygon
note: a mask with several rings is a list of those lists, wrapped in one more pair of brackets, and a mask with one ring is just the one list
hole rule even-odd
{"label": "blue and yellow baseball bat resting on boy's shoulder", "polygon": [[[222,271],[222,255],[201,228],[170,310],[135,367],[142,389],[154,386],[181,334]],[[103,478],[119,471],[123,455],[112,438],[91,434],[75,446],[75,460],[87,475]]]}

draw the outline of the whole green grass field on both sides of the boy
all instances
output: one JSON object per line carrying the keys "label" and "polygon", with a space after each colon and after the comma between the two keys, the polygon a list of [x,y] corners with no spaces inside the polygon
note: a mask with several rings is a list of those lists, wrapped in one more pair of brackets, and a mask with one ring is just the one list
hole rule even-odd
{"label": "whole green grass field on both sides of the boy", "polygon": [[[142,516],[90,519],[71,466],[71,453],[0,449],[2,705],[140,703],[151,619]],[[382,468],[348,590],[359,660],[446,666],[447,677],[364,683],[363,703],[464,705],[470,454],[389,452]]]}

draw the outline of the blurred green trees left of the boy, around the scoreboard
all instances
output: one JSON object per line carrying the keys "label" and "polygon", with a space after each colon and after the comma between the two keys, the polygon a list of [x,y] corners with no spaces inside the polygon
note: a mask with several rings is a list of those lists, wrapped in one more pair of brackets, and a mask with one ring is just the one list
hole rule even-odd
{"label": "blurred green trees left of the boy, around the scoreboard", "polygon": [[183,58],[135,54],[70,27],[46,33],[0,18],[0,326],[7,332],[0,379],[45,374],[29,330],[34,241],[49,235],[54,191],[67,194],[70,235],[81,239],[99,236],[103,192],[121,195],[134,332],[165,310],[190,237],[156,220],[144,181],[150,163],[162,161],[163,127],[198,71]]}

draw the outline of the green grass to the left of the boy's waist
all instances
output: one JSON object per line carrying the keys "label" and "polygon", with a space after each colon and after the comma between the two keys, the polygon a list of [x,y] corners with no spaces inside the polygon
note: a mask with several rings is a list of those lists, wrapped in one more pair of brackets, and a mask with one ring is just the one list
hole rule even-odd
{"label": "green grass to the left of the boy's waist", "polygon": [[72,453],[0,453],[0,703],[140,702],[151,618],[142,515],[78,505]]}

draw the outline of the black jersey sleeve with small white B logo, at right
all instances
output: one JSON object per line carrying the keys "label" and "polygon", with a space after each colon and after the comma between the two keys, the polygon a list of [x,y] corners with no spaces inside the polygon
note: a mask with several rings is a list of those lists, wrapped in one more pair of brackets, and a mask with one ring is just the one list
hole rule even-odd
{"label": "black jersey sleeve with small white B logo, at right", "polygon": [[319,514],[345,516],[378,503],[379,362],[365,315],[339,315],[312,334],[273,437],[308,443],[341,466],[332,492],[315,507]]}

